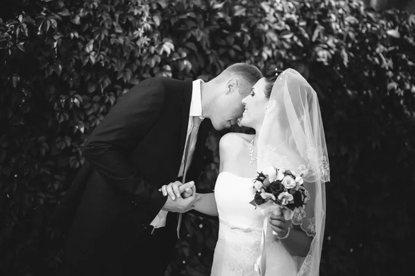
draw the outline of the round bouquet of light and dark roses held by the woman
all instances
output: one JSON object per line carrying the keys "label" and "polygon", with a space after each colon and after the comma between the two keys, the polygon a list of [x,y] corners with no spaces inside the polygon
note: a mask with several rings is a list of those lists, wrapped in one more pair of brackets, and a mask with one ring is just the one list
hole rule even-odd
{"label": "round bouquet of light and dark roses held by the woman", "polygon": [[259,207],[261,214],[280,209],[284,218],[290,220],[295,210],[304,209],[310,196],[304,188],[302,175],[276,167],[266,167],[257,174],[253,180],[255,197],[250,204]]}

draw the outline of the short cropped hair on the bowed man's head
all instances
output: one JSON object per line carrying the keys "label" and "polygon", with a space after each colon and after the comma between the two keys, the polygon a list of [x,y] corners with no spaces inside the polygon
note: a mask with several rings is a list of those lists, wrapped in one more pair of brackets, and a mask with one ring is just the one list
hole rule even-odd
{"label": "short cropped hair on the bowed man's head", "polygon": [[257,66],[246,62],[232,64],[222,73],[236,78],[242,85],[242,89],[239,90],[239,93],[243,94],[250,93],[252,86],[263,77]]}

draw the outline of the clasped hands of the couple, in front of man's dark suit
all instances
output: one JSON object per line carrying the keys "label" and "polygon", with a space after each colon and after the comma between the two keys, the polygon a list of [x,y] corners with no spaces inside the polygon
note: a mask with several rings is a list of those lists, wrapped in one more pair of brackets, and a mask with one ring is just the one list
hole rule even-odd
{"label": "clasped hands of the couple, in front of man's dark suit", "polygon": [[[201,199],[201,196],[196,196],[196,187],[194,186],[193,181],[185,184],[176,181],[169,185],[163,185],[159,191],[163,192],[164,196],[169,194],[169,196],[167,196],[167,201],[162,208],[169,212],[184,213],[193,210],[194,203]],[[181,194],[183,194],[183,197],[186,197],[182,198]]]}

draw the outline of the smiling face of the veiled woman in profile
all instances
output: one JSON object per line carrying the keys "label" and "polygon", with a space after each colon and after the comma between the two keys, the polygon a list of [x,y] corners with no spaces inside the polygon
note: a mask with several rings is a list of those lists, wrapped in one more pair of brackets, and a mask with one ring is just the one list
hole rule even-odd
{"label": "smiling face of the veiled woman in profile", "polygon": [[257,130],[261,127],[269,100],[265,95],[265,88],[266,80],[263,77],[252,86],[250,95],[243,98],[242,104],[245,106],[245,111],[242,114],[241,125],[244,127],[252,127]]}

